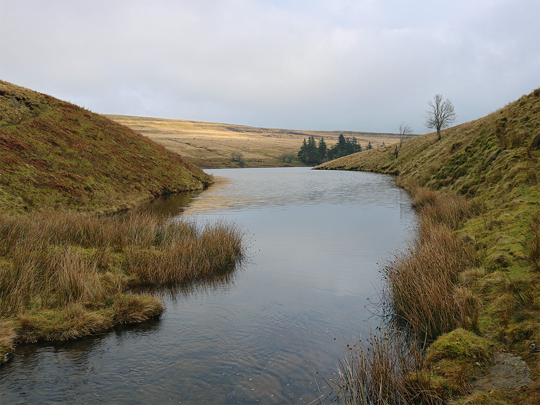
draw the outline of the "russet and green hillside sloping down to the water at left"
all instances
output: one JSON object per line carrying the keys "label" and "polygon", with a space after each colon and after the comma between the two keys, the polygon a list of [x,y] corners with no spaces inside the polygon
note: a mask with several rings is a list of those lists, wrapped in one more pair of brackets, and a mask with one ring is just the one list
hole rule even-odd
{"label": "russet and green hillside sloping down to the water at left", "polygon": [[211,183],[199,168],[125,126],[4,81],[0,167],[0,207],[19,211],[109,209]]}

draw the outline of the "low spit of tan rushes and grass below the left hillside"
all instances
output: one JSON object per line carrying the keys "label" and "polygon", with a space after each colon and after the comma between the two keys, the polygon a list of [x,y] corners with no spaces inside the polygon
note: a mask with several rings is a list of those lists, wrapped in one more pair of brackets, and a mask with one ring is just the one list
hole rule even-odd
{"label": "low spit of tan rushes and grass below the left hillside", "polygon": [[164,311],[136,286],[189,283],[232,271],[242,233],[155,215],[0,213],[0,354],[18,342],[65,340]]}

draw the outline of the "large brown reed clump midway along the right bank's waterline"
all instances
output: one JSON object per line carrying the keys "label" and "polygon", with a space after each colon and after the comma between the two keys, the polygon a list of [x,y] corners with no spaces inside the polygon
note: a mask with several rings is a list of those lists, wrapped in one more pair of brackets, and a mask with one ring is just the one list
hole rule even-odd
{"label": "large brown reed clump midway along the right bank's waterline", "polygon": [[[427,226],[426,226],[427,225]],[[408,251],[384,268],[387,295],[398,318],[421,339],[434,340],[457,326],[478,326],[480,301],[459,275],[473,265],[471,247],[443,225],[422,222]]]}

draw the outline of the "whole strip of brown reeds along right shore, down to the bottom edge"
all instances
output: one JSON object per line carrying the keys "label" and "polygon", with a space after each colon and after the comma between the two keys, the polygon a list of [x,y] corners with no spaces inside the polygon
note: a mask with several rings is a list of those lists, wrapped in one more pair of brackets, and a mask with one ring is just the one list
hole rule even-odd
{"label": "whole strip of brown reeds along right shore, down to the bottom edge", "polygon": [[456,230],[482,207],[427,189],[414,191],[413,204],[419,213],[416,237],[383,267],[381,301],[385,312],[390,309],[385,328],[392,333],[343,345],[346,353],[330,382],[338,403],[440,404],[459,389],[428,370],[425,349],[456,328],[478,328],[481,301],[470,285],[483,271],[474,238],[459,237]]}

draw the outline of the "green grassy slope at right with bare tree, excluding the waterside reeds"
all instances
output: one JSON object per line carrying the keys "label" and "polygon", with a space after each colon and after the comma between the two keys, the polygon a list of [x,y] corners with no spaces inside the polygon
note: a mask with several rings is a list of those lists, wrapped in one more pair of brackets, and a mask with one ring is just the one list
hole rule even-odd
{"label": "green grassy slope at right with bare tree, excluding the waterside reeds", "polygon": [[485,268],[474,285],[483,304],[480,332],[521,354],[536,379],[525,399],[498,394],[534,403],[540,360],[530,349],[540,345],[540,89],[436,139],[428,133],[408,140],[397,159],[386,146],[315,168],[399,174],[399,184],[413,193],[427,187],[464,195],[483,207],[457,230],[476,241],[476,260]]}

